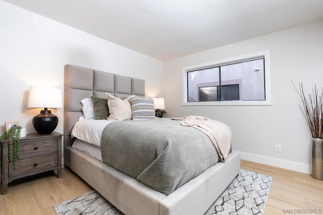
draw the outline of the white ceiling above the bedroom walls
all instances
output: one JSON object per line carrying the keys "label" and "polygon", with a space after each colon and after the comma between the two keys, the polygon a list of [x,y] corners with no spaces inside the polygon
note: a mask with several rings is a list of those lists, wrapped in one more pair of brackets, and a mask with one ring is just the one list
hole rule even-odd
{"label": "white ceiling above the bedroom walls", "polygon": [[167,60],[323,19],[322,0],[4,0]]}

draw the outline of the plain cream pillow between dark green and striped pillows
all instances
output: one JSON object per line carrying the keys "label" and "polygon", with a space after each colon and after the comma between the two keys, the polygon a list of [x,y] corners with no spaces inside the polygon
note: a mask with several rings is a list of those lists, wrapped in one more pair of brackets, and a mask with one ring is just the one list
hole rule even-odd
{"label": "plain cream pillow between dark green and striped pillows", "polygon": [[131,120],[131,105],[129,99],[120,99],[106,93],[110,116],[108,120]]}

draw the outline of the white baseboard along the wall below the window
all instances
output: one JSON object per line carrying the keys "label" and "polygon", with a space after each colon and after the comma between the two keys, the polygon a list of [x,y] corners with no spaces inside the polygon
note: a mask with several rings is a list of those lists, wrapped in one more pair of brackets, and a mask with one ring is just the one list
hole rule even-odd
{"label": "white baseboard along the wall below the window", "polygon": [[245,152],[240,152],[240,159],[252,161],[260,164],[270,165],[274,167],[279,167],[283,169],[293,170],[297,172],[302,172],[306,174],[311,174],[309,164],[302,164],[302,163],[297,163],[293,161],[287,161],[287,160],[255,155],[255,154],[250,154]]}

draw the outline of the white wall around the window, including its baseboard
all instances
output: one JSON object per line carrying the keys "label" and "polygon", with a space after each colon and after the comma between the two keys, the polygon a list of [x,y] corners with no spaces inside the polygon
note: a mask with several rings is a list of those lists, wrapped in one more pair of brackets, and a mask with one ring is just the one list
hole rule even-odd
{"label": "white wall around the window, including its baseboard", "polygon": [[[270,50],[271,106],[182,106],[182,67]],[[309,173],[310,133],[290,79],[323,86],[323,20],[164,62],[168,117],[203,115],[233,130],[241,158]],[[282,152],[275,151],[275,145]]]}

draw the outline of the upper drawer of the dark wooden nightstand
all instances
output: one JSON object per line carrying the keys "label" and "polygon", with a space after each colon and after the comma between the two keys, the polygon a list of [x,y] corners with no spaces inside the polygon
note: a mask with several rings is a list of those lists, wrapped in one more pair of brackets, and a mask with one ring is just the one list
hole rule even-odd
{"label": "upper drawer of the dark wooden nightstand", "polygon": [[20,141],[20,159],[58,151],[57,139]]}

